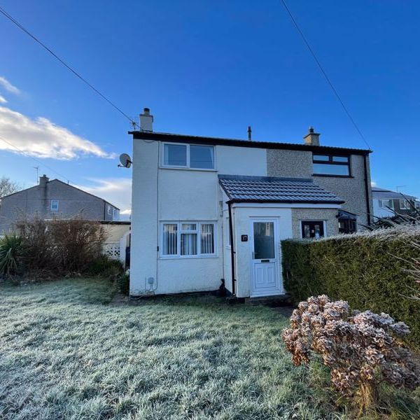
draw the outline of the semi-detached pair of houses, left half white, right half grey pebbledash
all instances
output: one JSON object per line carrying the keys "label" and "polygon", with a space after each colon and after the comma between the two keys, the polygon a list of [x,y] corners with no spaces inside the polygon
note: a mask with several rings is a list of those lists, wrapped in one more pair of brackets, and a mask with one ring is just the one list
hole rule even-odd
{"label": "semi-detached pair of houses, left half white, right half grey pebbledash", "polygon": [[[153,132],[133,137],[130,294],[216,290],[285,293],[282,239],[370,223],[369,154],[303,144]],[[248,132],[248,136],[250,133]]]}

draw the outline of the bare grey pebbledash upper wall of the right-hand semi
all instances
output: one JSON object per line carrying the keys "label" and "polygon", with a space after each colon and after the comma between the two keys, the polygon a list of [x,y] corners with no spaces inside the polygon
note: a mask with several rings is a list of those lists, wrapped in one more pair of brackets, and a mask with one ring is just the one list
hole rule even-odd
{"label": "bare grey pebbledash upper wall of the right-hand semi", "polygon": [[[372,214],[372,191],[370,188],[369,157],[366,156],[368,199],[365,193],[365,156],[351,155],[351,177],[314,175],[311,151],[283,151],[267,149],[268,176],[296,176],[311,178],[325,190],[335,193],[345,203],[342,209],[358,215],[358,223],[367,225],[367,205]],[[338,225],[337,225],[338,232]],[[329,233],[328,235],[331,235]]]}

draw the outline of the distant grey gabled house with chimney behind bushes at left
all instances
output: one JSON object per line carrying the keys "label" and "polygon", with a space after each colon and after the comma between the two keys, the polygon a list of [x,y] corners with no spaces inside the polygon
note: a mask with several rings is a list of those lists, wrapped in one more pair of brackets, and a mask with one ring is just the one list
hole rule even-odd
{"label": "distant grey gabled house with chimney behind bushes at left", "polygon": [[13,224],[22,217],[70,218],[77,214],[93,221],[120,220],[120,209],[113,204],[43,175],[37,186],[0,199],[0,234],[13,230]]}

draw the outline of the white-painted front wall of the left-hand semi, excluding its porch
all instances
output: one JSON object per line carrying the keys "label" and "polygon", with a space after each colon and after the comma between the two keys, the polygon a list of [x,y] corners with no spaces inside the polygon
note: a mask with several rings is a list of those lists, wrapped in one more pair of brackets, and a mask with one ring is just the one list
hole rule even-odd
{"label": "white-painted front wall of the left-hand semi, excluding its porch", "polygon": [[[223,278],[223,246],[229,232],[224,231],[218,173],[265,176],[265,148],[216,146],[216,169],[164,168],[162,150],[160,141],[133,140],[130,294],[148,290],[149,277],[157,279],[157,294],[216,290]],[[216,255],[160,257],[160,223],[169,221],[216,222]]]}

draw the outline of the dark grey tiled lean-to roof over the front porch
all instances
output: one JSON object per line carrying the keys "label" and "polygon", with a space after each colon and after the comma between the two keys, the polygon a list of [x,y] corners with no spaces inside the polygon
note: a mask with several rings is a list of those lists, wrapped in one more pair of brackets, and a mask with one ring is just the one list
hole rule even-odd
{"label": "dark grey tiled lean-to roof over the front porch", "polygon": [[230,202],[342,204],[344,200],[311,179],[219,175]]}

